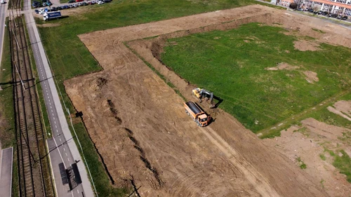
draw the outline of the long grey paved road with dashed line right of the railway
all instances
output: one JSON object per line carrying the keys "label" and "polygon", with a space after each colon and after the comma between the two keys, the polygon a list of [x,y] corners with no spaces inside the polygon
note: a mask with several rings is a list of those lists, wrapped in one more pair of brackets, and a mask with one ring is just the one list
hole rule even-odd
{"label": "long grey paved road with dashed line right of the railway", "polygon": [[[26,0],[25,4],[27,5],[25,8],[28,10],[30,8],[30,1]],[[69,168],[72,164],[76,163],[76,160],[81,161],[81,156],[69,131],[60,98],[58,96],[58,91],[56,90],[55,82],[53,81],[53,75],[48,64],[48,59],[46,58],[44,47],[41,43],[37,26],[34,22],[34,17],[32,13],[28,13],[27,11],[24,13],[29,39],[32,43],[34,60],[37,64],[39,80],[41,81],[40,84],[44,93],[46,110],[48,111],[48,117],[51,124],[51,135],[53,136],[53,139],[52,141],[48,141],[48,143],[50,142],[50,145],[52,146],[52,142],[54,142],[55,146],[58,147],[51,152],[53,154],[51,154],[50,157],[55,175],[55,170],[59,170],[58,165],[55,165],[57,160],[60,160],[61,163],[65,165],[65,168]],[[77,163],[77,166],[81,175],[82,184],[79,184],[79,186],[69,193],[62,193],[62,196],[94,196],[84,163],[79,162]],[[61,177],[57,177],[56,175],[55,185],[56,188],[64,187],[62,185]]]}

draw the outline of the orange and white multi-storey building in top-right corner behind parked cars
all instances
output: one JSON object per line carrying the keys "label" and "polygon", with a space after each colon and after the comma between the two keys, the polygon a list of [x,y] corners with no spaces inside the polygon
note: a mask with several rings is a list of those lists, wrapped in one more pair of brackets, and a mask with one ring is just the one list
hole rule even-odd
{"label": "orange and white multi-storey building in top-right corner behind parked cars", "polygon": [[[290,6],[293,2],[294,0],[281,0],[279,4]],[[319,11],[351,16],[351,0],[301,0],[300,7],[317,8]]]}

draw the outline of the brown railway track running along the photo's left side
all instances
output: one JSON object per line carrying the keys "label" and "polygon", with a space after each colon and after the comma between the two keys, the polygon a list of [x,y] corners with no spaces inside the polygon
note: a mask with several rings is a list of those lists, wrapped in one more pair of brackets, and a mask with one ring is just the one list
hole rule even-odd
{"label": "brown railway track running along the photo's left side", "polygon": [[[20,0],[13,4],[20,6]],[[13,64],[13,97],[20,196],[55,196],[36,83],[30,63],[25,22],[10,12],[9,31]]]}

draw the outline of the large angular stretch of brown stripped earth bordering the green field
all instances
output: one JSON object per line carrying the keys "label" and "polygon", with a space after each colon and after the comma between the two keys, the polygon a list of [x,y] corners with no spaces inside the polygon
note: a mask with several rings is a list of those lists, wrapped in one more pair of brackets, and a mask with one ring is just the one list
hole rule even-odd
{"label": "large angular stretch of brown stripped earth bordering the green field", "polygon": [[194,100],[194,87],[157,60],[159,42],[247,22],[298,27],[291,34],[351,46],[343,27],[258,5],[79,35],[103,71],[69,79],[65,88],[114,186],[141,186],[140,196],[329,195],[320,180],[224,111],[203,106],[215,121],[199,128],[185,114],[182,97],[143,61]]}

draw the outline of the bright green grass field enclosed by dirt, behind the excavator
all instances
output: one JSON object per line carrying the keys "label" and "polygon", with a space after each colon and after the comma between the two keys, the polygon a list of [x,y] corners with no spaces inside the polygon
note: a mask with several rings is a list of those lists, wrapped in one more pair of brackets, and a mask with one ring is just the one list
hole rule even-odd
{"label": "bright green grass field enclosed by dirt, behind the excavator", "polygon": [[[350,88],[350,48],[322,43],[320,50],[296,50],[293,41],[305,36],[284,31],[251,23],[170,39],[161,59],[190,83],[223,98],[220,108],[257,133]],[[299,68],[265,69],[280,62]],[[319,81],[308,83],[305,71],[316,72]]]}

